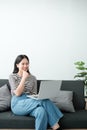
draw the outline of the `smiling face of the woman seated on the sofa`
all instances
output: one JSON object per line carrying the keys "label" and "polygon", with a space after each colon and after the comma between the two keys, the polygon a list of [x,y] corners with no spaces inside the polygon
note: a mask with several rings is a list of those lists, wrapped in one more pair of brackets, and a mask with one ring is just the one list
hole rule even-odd
{"label": "smiling face of the woman seated on the sofa", "polygon": [[19,69],[20,72],[28,71],[29,70],[29,62],[26,58],[22,59],[22,61],[17,64],[17,68]]}

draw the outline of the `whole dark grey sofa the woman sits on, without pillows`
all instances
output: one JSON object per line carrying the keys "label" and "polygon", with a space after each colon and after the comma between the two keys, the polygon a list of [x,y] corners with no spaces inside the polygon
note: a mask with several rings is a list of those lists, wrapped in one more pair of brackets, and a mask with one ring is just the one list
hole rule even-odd
{"label": "whole dark grey sofa the woman sits on, without pillows", "polygon": [[[41,80],[37,80],[39,91]],[[7,79],[0,79],[0,87],[8,85]],[[83,82],[78,80],[63,80],[61,90],[73,91],[73,105],[75,112],[63,111],[64,116],[60,120],[63,129],[87,129],[87,111],[85,110]],[[48,126],[49,127],[49,126]],[[31,116],[17,116],[11,109],[0,112],[0,129],[34,129],[35,118]]]}

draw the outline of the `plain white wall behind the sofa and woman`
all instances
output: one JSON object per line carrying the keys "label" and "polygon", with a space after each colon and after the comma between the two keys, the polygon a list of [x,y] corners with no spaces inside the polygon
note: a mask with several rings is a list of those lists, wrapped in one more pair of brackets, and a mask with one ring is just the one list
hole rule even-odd
{"label": "plain white wall behind the sofa and woman", "polygon": [[87,0],[0,0],[0,78],[27,54],[37,79],[73,79],[86,35]]}

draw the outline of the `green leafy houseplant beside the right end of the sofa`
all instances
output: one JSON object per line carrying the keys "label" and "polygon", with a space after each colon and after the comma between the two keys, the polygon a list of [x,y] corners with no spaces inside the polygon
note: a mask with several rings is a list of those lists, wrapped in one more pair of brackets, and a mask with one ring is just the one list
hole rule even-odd
{"label": "green leafy houseplant beside the right end of the sofa", "polygon": [[85,65],[85,62],[83,62],[83,61],[77,61],[74,64],[76,66],[76,69],[79,70],[79,72],[74,76],[74,78],[79,78],[79,79],[83,80],[84,96],[87,97],[87,67]]}

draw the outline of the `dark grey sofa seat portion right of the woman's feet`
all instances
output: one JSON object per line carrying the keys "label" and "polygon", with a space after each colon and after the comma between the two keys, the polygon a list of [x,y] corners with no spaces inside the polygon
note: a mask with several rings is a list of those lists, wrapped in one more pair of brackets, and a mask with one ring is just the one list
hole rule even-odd
{"label": "dark grey sofa seat portion right of the woman's feet", "polygon": [[64,113],[64,117],[61,118],[60,124],[64,129],[87,128],[87,110]]}

